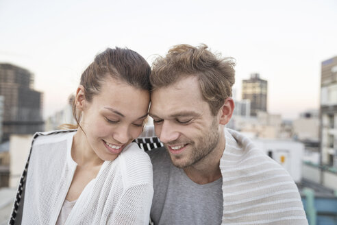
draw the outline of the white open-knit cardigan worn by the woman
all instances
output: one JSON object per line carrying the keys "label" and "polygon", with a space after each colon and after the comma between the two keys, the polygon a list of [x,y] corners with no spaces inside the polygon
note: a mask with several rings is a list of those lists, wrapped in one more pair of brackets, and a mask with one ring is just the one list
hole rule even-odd
{"label": "white open-knit cardigan worn by the woman", "polygon": [[[40,133],[32,145],[22,224],[55,224],[77,164],[71,158],[75,132]],[[77,199],[68,224],[149,224],[153,196],[149,156],[131,143],[105,161]]]}

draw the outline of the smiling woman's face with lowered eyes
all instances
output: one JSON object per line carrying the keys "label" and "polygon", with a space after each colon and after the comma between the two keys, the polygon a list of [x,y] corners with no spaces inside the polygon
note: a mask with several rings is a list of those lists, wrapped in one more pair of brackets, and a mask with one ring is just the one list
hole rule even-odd
{"label": "smiling woman's face with lowered eyes", "polygon": [[79,124],[86,133],[88,145],[99,158],[114,160],[140,135],[149,102],[149,91],[112,78],[102,82],[101,93],[94,95],[90,102],[83,97]]}

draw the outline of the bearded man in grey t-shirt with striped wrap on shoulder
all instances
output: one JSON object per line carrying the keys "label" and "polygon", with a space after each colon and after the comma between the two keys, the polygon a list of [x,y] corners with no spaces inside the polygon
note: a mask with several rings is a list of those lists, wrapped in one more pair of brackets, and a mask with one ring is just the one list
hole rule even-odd
{"label": "bearded man in grey t-shirt with striped wrap on shoulder", "polygon": [[234,62],[177,45],[153,63],[151,108],[164,147],[149,152],[157,224],[308,224],[288,173],[232,117]]}

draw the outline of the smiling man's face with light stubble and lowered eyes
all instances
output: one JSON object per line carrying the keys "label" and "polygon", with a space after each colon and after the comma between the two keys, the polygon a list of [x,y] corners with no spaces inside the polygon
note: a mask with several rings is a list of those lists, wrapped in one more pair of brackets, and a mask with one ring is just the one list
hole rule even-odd
{"label": "smiling man's face with light stubble and lowered eyes", "polygon": [[149,115],[177,167],[205,161],[219,145],[219,118],[203,100],[197,77],[153,91]]}

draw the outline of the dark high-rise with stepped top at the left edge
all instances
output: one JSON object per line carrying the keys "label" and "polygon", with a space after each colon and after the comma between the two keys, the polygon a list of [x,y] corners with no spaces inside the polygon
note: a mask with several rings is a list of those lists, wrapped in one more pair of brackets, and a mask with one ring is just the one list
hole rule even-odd
{"label": "dark high-rise with stepped top at the left edge", "polygon": [[3,104],[3,137],[32,134],[43,129],[42,93],[34,91],[34,75],[12,64],[0,64],[0,95]]}

